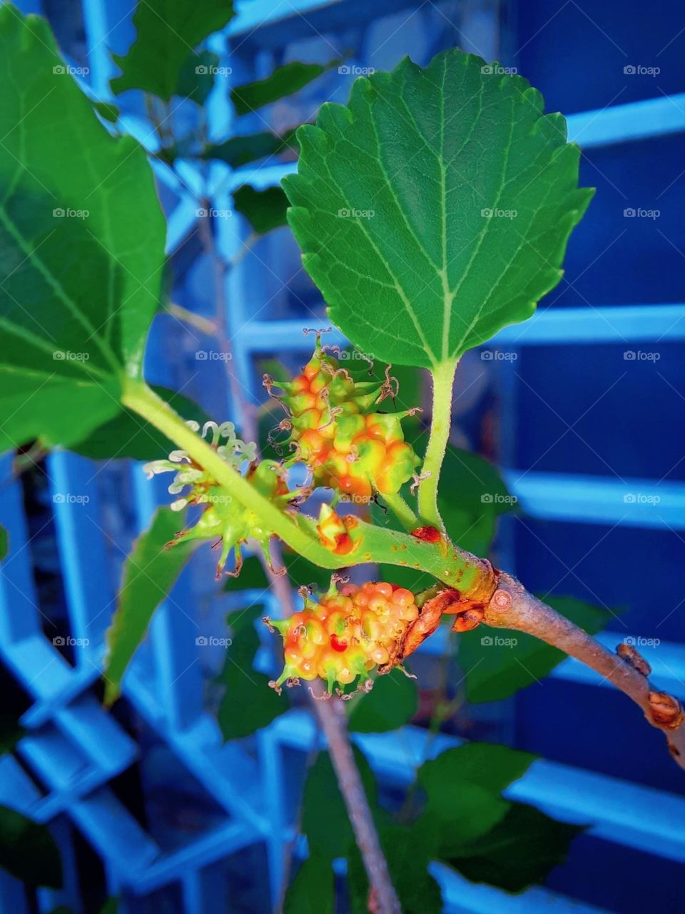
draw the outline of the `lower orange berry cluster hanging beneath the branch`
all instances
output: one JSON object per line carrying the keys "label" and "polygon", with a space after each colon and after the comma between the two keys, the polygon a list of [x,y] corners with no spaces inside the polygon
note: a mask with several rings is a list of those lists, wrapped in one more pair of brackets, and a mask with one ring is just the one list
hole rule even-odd
{"label": "lower orange berry cluster hanging beneath the branch", "polygon": [[416,621],[418,608],[410,590],[367,581],[361,587],[345,584],[331,588],[316,602],[305,598],[304,609],[290,619],[264,621],[283,636],[285,666],[275,682],[278,692],[285,682],[320,677],[328,684],[349,685],[369,671],[395,659],[408,627]]}

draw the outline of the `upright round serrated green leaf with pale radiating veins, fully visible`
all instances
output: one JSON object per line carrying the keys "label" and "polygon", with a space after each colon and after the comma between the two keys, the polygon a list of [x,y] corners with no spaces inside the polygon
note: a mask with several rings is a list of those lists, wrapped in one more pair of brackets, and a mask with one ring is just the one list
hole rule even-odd
{"label": "upright round serrated green leaf with pale radiating veins, fully visible", "polygon": [[283,186],[302,262],[332,321],[385,361],[435,367],[530,317],[592,196],[562,115],[483,66],[407,58],[298,131]]}

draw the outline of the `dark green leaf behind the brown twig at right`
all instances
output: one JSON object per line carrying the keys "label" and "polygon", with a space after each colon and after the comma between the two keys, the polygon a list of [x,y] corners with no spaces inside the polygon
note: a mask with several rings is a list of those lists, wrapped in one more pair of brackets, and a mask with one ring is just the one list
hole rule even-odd
{"label": "dark green leaf behind the brown twig at right", "polygon": [[[606,610],[573,597],[541,599],[589,634],[599,632],[609,619]],[[458,661],[473,703],[509,698],[540,682],[565,659],[563,651],[523,632],[478,628],[459,637]]]}

